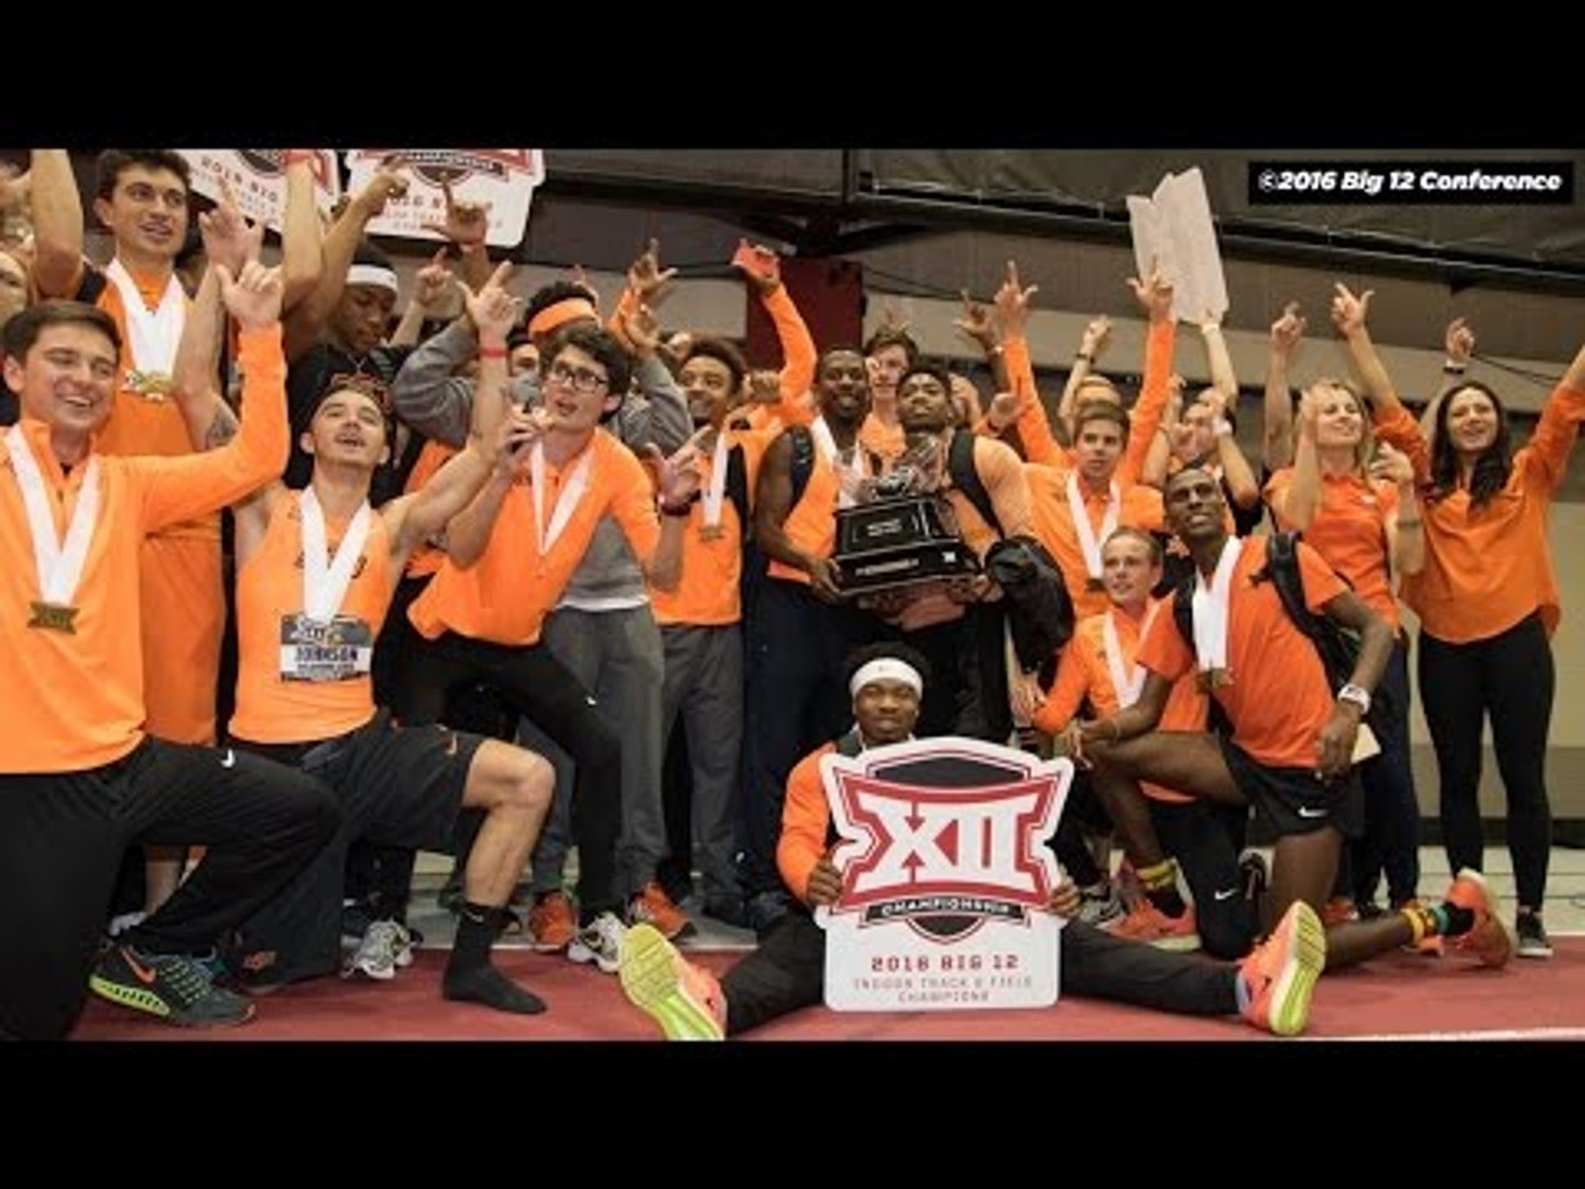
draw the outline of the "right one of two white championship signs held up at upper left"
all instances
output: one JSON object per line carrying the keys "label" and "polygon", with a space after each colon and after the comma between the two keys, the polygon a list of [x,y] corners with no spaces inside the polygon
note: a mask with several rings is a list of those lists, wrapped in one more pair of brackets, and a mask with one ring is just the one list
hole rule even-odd
{"label": "right one of two white championship signs held up at upper left", "polygon": [[517,247],[528,231],[528,208],[534,187],[545,178],[540,149],[349,149],[350,187],[357,193],[374,171],[399,154],[411,181],[407,193],[385,205],[385,212],[369,222],[371,235],[403,239],[441,241],[426,224],[445,222],[445,190],[450,184],[458,201],[488,203],[491,247]]}

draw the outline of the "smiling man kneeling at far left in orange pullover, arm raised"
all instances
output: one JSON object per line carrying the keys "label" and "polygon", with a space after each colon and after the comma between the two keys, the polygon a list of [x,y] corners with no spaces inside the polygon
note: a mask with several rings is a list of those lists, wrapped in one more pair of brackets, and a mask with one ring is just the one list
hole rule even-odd
{"label": "smiling man kneeling at far left in orange pullover, arm raised", "polygon": [[[241,433],[206,455],[98,452],[120,350],[103,311],[43,301],[6,325],[5,382],[22,419],[0,438],[0,1037],[65,1037],[90,972],[98,994],[174,1024],[249,1019],[252,1004],[216,988],[195,954],[336,829],[317,782],[143,728],[143,539],[285,463],[281,279],[249,265],[222,287],[247,380]],[[146,842],[208,851],[95,965],[122,853]]]}

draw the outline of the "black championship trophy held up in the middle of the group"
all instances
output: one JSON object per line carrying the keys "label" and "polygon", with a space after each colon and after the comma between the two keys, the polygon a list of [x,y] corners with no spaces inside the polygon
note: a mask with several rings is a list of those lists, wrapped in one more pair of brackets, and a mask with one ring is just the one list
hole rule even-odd
{"label": "black championship trophy held up in the middle of the group", "polygon": [[910,449],[889,474],[857,484],[854,507],[837,509],[837,585],[848,598],[922,582],[972,579],[980,560],[964,544],[941,495],[946,452],[935,438]]}

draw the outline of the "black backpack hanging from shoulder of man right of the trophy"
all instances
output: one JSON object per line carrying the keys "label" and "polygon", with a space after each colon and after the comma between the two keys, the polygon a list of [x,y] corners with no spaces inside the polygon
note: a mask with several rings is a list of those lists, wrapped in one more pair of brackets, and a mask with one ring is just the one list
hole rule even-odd
{"label": "black backpack hanging from shoulder of man right of the trophy", "polygon": [[975,436],[959,430],[946,453],[953,484],[995,530],[997,542],[986,550],[986,574],[1006,596],[1006,623],[1013,652],[1024,672],[1048,664],[1073,639],[1073,599],[1062,580],[1062,566],[1032,536],[1006,537],[991,493],[975,468]]}

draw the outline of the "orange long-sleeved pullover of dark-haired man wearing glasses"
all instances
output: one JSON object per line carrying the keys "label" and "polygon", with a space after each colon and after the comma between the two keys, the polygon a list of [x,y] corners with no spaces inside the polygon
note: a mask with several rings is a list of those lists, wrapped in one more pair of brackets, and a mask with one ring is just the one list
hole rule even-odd
{"label": "orange long-sleeved pullover of dark-haired man wearing glasses", "polygon": [[560,469],[545,465],[545,530],[550,530],[561,485],[593,450],[588,485],[550,550],[539,555],[534,501],[525,476],[501,504],[483,555],[468,569],[450,558],[407,609],[407,618],[428,640],[447,631],[493,644],[537,644],[545,615],[572,580],[588,552],[594,526],[607,512],[621,526],[639,564],[648,566],[661,539],[650,474],[632,452],[604,430],[596,430],[583,453]]}

